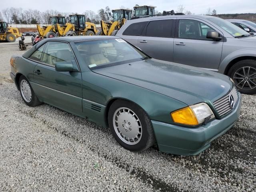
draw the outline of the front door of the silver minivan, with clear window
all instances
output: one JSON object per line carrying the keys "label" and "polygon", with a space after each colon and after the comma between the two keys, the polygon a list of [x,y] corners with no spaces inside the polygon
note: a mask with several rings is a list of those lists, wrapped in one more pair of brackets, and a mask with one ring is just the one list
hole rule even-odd
{"label": "front door of the silver minivan, with clear window", "polygon": [[208,31],[218,29],[194,19],[177,19],[174,39],[174,62],[218,71],[222,55],[223,39],[215,41],[206,38]]}

